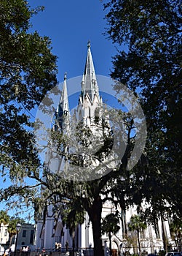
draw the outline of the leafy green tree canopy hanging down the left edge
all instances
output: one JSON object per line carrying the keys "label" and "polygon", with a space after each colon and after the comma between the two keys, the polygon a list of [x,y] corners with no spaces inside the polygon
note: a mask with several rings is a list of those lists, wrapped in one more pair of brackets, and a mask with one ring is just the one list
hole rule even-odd
{"label": "leafy green tree canopy hanging down the left edge", "polygon": [[26,197],[25,178],[39,178],[31,110],[57,84],[50,39],[28,30],[32,15],[43,9],[31,10],[25,0],[0,2],[0,171],[4,182],[15,184],[1,189],[0,200]]}

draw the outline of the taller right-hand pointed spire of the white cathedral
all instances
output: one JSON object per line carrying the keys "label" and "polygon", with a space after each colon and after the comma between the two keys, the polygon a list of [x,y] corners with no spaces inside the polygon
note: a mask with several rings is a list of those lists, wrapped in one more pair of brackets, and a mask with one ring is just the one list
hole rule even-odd
{"label": "taller right-hand pointed spire of the white cathedral", "polygon": [[84,75],[82,78],[82,97],[84,98],[86,94],[89,95],[92,102],[95,95],[97,95],[99,99],[98,83],[96,80],[95,68],[92,61],[90,41],[87,44],[87,59],[84,67]]}

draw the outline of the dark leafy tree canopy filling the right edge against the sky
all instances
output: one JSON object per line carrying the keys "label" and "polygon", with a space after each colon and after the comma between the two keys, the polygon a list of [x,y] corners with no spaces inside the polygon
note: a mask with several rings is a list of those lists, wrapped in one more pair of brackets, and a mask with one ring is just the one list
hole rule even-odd
{"label": "dark leafy tree canopy filling the right edge against the sky", "polygon": [[133,184],[152,206],[147,218],[181,218],[181,2],[112,0],[104,6],[106,33],[119,45],[111,77],[140,91],[147,122],[149,164],[138,167]]}

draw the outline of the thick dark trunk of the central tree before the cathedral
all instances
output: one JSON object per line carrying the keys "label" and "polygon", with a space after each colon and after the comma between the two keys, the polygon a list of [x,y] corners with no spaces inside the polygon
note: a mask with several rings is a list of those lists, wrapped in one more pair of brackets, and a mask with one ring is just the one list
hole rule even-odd
{"label": "thick dark trunk of the central tree before the cathedral", "polygon": [[101,239],[102,200],[100,197],[95,198],[88,214],[90,221],[92,222],[94,256],[103,256],[103,245]]}

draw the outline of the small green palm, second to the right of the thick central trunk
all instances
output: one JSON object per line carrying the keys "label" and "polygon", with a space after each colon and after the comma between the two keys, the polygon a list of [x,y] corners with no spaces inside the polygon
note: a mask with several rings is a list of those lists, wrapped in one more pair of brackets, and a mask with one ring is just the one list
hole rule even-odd
{"label": "small green palm, second to the right of the thick central trunk", "polygon": [[138,249],[139,255],[141,255],[140,232],[141,230],[146,229],[146,222],[143,221],[140,215],[132,215],[130,222],[128,223],[128,229],[130,231],[137,231]]}

